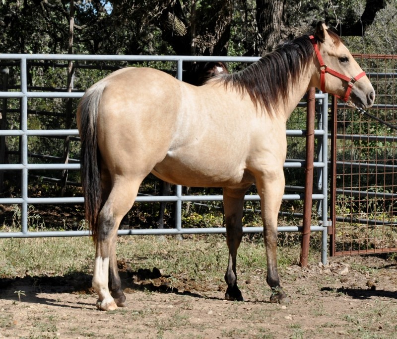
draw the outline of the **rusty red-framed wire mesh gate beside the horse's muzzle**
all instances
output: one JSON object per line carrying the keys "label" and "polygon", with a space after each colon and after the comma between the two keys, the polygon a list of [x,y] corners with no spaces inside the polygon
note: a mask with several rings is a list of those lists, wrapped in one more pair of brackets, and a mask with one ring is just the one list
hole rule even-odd
{"label": "rusty red-framed wire mesh gate beside the horse's muzzle", "polygon": [[[397,125],[397,56],[355,58],[377,93],[368,112]],[[397,131],[333,100],[331,255],[397,251]]]}

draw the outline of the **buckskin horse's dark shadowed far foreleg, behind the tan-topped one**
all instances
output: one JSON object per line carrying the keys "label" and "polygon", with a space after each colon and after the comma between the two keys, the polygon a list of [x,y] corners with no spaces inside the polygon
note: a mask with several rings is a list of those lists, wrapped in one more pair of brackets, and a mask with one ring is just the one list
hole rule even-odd
{"label": "buckskin horse's dark shadowed far foreleg, behind the tan-topped one", "polygon": [[225,274],[227,300],[243,301],[241,291],[237,287],[236,258],[237,250],[243,237],[244,190],[223,188],[223,207],[225,212],[226,241],[229,249],[229,262]]}

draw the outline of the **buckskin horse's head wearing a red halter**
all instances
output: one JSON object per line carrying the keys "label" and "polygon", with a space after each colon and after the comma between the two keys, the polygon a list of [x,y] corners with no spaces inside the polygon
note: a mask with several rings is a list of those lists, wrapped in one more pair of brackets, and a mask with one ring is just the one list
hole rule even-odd
{"label": "buckskin horse's head wearing a red halter", "polygon": [[317,54],[320,74],[316,86],[344,101],[351,100],[360,108],[371,107],[375,99],[375,90],[339,36],[328,30],[324,23],[319,22],[311,39]]}

